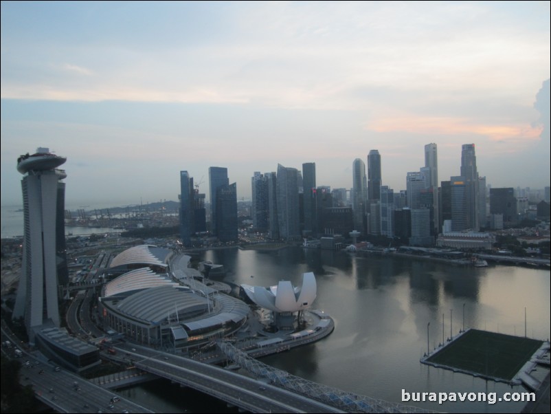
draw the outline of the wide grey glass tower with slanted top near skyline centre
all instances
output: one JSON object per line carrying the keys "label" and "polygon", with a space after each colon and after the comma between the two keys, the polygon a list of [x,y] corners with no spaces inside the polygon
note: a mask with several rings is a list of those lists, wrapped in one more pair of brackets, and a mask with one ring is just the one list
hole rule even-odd
{"label": "wide grey glass tower with slanted top near skyline centre", "polygon": [[278,164],[278,223],[282,239],[300,239],[298,170]]}

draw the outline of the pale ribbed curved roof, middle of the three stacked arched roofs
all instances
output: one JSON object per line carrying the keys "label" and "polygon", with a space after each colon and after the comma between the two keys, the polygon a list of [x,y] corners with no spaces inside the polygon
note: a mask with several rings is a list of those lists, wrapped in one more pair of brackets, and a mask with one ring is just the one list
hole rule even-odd
{"label": "pale ribbed curved roof, middle of the three stacked arched roofs", "polygon": [[150,268],[141,268],[122,274],[107,283],[104,287],[104,296],[115,296],[133,290],[166,285],[175,287],[179,286],[179,283],[173,282],[167,274],[157,274]]}

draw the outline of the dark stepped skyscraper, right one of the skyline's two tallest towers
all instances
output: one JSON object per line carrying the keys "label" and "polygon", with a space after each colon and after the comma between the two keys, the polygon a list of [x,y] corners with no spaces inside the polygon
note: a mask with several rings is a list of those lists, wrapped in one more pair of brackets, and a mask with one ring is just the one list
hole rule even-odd
{"label": "dark stepped skyscraper, right one of the skyline's two tallest towers", "polygon": [[461,177],[465,182],[466,228],[477,232],[480,225],[478,223],[478,171],[475,144],[463,144],[461,147]]}

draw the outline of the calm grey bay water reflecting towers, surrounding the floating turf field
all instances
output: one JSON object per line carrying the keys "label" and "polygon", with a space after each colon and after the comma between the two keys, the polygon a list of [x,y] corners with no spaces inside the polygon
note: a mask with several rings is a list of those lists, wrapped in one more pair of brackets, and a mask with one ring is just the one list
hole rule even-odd
{"label": "calm grey bay water reflecting towers, surrounding the floating turf field", "polygon": [[[549,270],[492,264],[472,268],[392,254],[361,256],[298,247],[209,250],[201,252],[200,259],[225,265],[222,280],[234,285],[269,286],[282,279],[300,285],[302,273],[314,272],[314,307],[335,319],[335,331],[324,340],[262,361],[308,380],[388,402],[401,403],[402,389],[409,393],[495,392],[498,398],[526,391],[522,386],[421,364],[419,359],[427,351],[427,325],[431,350],[442,338],[457,335],[463,323],[465,329],[517,336],[524,336],[526,327],[531,338],[550,337]],[[543,378],[547,372],[538,367],[532,375]],[[123,393],[154,406],[170,401],[170,412],[210,412],[191,406],[191,401],[201,401],[200,407],[217,404],[217,412],[227,409],[209,397],[161,384],[144,384]],[[404,404],[449,413],[518,413],[525,403]]]}

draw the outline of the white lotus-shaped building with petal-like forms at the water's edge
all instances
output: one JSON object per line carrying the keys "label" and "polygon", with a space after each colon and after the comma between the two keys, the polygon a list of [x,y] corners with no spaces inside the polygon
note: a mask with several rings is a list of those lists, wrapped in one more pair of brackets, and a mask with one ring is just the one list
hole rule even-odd
{"label": "white lotus-shaped building with petal-like forms at the water's edge", "polygon": [[302,287],[293,287],[290,281],[280,281],[277,286],[262,287],[241,285],[249,299],[256,305],[273,312],[298,312],[311,307],[317,294],[313,272],[302,275]]}

